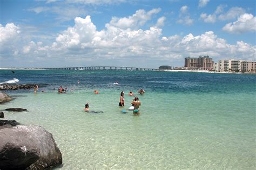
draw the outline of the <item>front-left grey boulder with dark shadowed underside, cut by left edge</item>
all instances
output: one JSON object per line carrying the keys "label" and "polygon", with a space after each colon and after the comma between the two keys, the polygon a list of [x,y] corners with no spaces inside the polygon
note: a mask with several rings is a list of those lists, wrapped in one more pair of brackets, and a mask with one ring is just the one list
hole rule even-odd
{"label": "front-left grey boulder with dark shadowed underside, cut by left edge", "polygon": [[17,128],[0,130],[0,169],[25,169],[39,159],[36,140]]}

